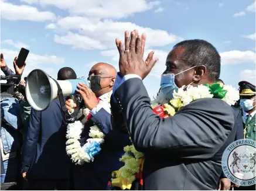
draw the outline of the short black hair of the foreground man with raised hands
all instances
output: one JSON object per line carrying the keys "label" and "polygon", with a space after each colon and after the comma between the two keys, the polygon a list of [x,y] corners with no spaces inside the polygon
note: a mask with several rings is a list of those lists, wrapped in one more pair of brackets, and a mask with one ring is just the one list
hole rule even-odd
{"label": "short black hair of the foreground man with raised hands", "polygon": [[210,80],[216,82],[220,78],[220,54],[216,48],[205,40],[184,40],[173,48],[185,48],[181,57],[192,64],[204,65]]}

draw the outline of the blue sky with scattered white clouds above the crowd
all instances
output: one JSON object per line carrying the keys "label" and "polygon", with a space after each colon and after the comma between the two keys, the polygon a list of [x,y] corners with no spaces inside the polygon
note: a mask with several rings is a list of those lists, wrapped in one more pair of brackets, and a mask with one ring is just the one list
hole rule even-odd
{"label": "blue sky with scattered white clouds above the crowd", "polygon": [[226,84],[255,84],[255,0],[0,0],[0,7],[8,65],[21,47],[30,50],[23,77],[35,68],[56,77],[69,66],[87,77],[97,62],[117,67],[115,37],[138,29],[147,34],[146,52],[155,50],[160,58],[144,80],[151,98],[166,55],[182,39],[207,40],[217,48]]}

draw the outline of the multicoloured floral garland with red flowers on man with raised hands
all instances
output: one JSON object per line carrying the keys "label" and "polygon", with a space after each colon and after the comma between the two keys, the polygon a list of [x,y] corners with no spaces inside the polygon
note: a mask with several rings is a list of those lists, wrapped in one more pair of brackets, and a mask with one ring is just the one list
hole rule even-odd
{"label": "multicoloured floral garland with red flowers on man with raised hands", "polygon": [[[174,116],[181,107],[197,99],[219,98],[230,106],[239,99],[239,92],[230,85],[222,86],[219,83],[198,85],[197,87],[189,85],[186,90],[184,89],[185,86],[182,86],[177,92],[173,92],[172,100],[166,99],[160,91],[151,102],[153,112],[159,117],[167,118]],[[136,151],[134,145],[124,147],[124,151],[125,154],[120,158],[120,161],[124,162],[124,166],[112,173],[112,186],[121,187],[122,190],[131,189],[135,179],[139,178],[141,183],[144,163],[144,154]]]}

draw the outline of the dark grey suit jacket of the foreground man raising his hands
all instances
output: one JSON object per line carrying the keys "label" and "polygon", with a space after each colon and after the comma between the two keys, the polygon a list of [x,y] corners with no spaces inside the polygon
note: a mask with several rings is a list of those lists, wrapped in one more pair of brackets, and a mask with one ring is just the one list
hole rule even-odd
{"label": "dark grey suit jacket of the foreground man raising his hands", "polygon": [[145,190],[216,189],[223,151],[236,131],[233,109],[227,103],[198,99],[175,116],[162,119],[153,113],[148,93],[138,78],[125,81],[114,97],[132,143],[145,153]]}

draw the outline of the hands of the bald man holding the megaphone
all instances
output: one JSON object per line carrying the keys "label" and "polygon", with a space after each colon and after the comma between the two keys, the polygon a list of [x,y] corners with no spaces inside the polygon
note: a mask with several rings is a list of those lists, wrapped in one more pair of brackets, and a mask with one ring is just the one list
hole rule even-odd
{"label": "hands of the bald man holding the megaphone", "polygon": [[[91,91],[90,88],[86,84],[83,84],[79,82],[77,85],[76,91],[81,94],[84,100],[84,105],[90,110],[94,109],[98,105],[97,97],[95,96],[95,93]],[[66,107],[69,110],[70,113],[74,112],[74,109],[77,107],[76,103],[72,99],[68,99],[66,102]]]}

